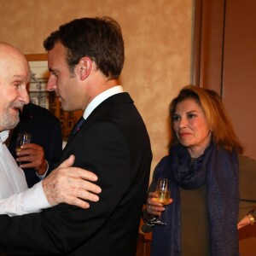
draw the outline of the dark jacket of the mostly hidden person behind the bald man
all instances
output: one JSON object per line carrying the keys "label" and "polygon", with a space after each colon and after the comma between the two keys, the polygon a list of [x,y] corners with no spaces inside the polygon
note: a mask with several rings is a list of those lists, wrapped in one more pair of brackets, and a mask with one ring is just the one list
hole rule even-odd
{"label": "dark jacket of the mostly hidden person behind the bald man", "polygon": [[[49,172],[60,159],[62,152],[61,125],[59,119],[53,113],[43,107],[28,103],[20,114],[20,123],[15,127],[9,142],[9,151],[16,155],[16,139],[18,132],[31,132],[31,143],[36,143],[44,148],[44,157],[49,163]],[[38,183],[39,178],[33,168],[24,169],[26,183],[31,188]],[[49,174],[48,172],[48,174]]]}

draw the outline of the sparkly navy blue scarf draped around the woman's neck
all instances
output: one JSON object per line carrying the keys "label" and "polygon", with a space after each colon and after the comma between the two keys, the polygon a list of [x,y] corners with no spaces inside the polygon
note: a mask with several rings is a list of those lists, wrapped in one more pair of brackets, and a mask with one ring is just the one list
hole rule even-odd
{"label": "sparkly navy blue scarf draped around the woman's neck", "polygon": [[186,148],[177,144],[156,166],[155,179],[171,179],[174,201],[166,207],[162,219],[166,226],[155,225],[152,237],[152,256],[180,256],[181,213],[178,187],[198,189],[207,184],[207,216],[210,252],[212,256],[237,256],[237,219],[239,209],[238,159],[235,152],[217,149],[214,143],[190,165]]}

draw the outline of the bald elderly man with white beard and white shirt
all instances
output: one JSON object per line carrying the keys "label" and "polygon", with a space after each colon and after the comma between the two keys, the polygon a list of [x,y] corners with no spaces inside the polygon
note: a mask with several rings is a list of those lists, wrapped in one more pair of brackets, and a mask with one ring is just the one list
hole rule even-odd
{"label": "bald elderly man with white beard and white shirt", "polygon": [[24,173],[4,141],[9,136],[9,129],[19,122],[19,109],[28,103],[26,84],[30,79],[30,68],[18,49],[0,43],[0,71],[0,213],[20,215],[38,212],[61,202],[89,207],[81,199],[97,201],[98,196],[93,193],[98,193],[100,189],[83,179],[96,181],[96,175],[71,167],[73,156],[43,182],[27,189]]}

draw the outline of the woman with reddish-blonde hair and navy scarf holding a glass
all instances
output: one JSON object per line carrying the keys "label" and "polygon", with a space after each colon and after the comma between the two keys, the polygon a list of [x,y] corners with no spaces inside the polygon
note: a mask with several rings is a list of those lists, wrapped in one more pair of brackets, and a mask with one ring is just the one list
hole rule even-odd
{"label": "woman with reddish-blonde hair and navy scarf holding a glass", "polygon": [[[151,255],[237,256],[237,154],[243,148],[221,98],[212,90],[184,87],[171,102],[170,117],[169,155],[155,168],[143,212],[149,226],[157,215],[166,223],[153,227]],[[152,192],[160,177],[171,180],[173,201],[166,207]]]}

